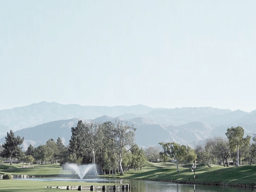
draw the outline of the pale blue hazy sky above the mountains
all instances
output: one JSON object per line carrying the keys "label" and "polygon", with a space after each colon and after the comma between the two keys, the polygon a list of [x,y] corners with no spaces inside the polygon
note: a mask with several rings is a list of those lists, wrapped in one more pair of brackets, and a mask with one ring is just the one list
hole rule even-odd
{"label": "pale blue hazy sky above the mountains", "polygon": [[256,109],[256,1],[0,1],[0,110]]}

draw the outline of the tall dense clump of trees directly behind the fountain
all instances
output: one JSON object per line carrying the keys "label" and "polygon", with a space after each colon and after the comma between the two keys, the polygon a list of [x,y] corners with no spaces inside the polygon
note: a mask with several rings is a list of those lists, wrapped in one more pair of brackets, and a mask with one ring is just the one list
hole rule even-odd
{"label": "tall dense clump of trees directly behind the fountain", "polygon": [[[65,161],[78,164],[96,163],[104,173],[106,170],[109,173],[110,170],[115,170],[123,174],[123,167],[134,167],[132,157],[127,159],[129,155],[126,155],[134,155],[131,150],[134,146],[134,131],[133,126],[120,121],[102,124],[79,121],[76,127],[71,128],[72,135]],[[146,162],[146,157],[144,159]]]}

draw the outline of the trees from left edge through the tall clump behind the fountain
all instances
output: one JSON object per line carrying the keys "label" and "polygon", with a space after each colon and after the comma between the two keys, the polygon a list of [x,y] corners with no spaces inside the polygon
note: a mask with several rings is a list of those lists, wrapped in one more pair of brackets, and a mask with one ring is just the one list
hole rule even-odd
{"label": "trees from left edge through the tall clump behind the fountain", "polygon": [[126,170],[141,169],[147,161],[145,151],[134,142],[135,130],[134,126],[121,121],[78,121],[76,127],[71,127],[68,146],[63,145],[60,138],[49,139],[45,145],[35,148],[30,145],[26,151],[20,147],[24,138],[15,137],[11,130],[7,132],[0,156],[9,159],[11,165],[13,158],[28,164],[95,163],[102,173],[124,174]]}

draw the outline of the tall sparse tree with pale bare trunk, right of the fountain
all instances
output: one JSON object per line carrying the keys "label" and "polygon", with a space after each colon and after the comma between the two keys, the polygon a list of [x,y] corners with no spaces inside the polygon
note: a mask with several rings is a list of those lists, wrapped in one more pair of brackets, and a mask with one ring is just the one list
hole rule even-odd
{"label": "tall sparse tree with pale bare trunk, right of the fountain", "polygon": [[127,153],[127,150],[124,149],[133,143],[136,129],[121,121],[105,122],[103,126],[108,130],[107,137],[112,141],[110,150],[113,151],[115,158],[118,160],[120,174],[123,175],[122,158]]}

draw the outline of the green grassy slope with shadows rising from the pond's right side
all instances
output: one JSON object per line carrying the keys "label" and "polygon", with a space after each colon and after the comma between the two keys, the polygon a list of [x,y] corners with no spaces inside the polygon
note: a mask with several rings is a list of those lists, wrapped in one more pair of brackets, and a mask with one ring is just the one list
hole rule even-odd
{"label": "green grassy slope with shadows rising from the pond's right side", "polygon": [[[176,164],[167,163],[147,163],[141,171],[128,171],[120,178],[131,179],[150,179],[163,181],[175,181],[184,183],[194,183],[194,172],[191,172],[191,164],[179,166],[177,172]],[[196,168],[196,183],[230,185],[230,186],[256,186],[256,165],[242,165],[223,167],[220,165],[212,165],[207,167],[205,164],[199,164]]]}

